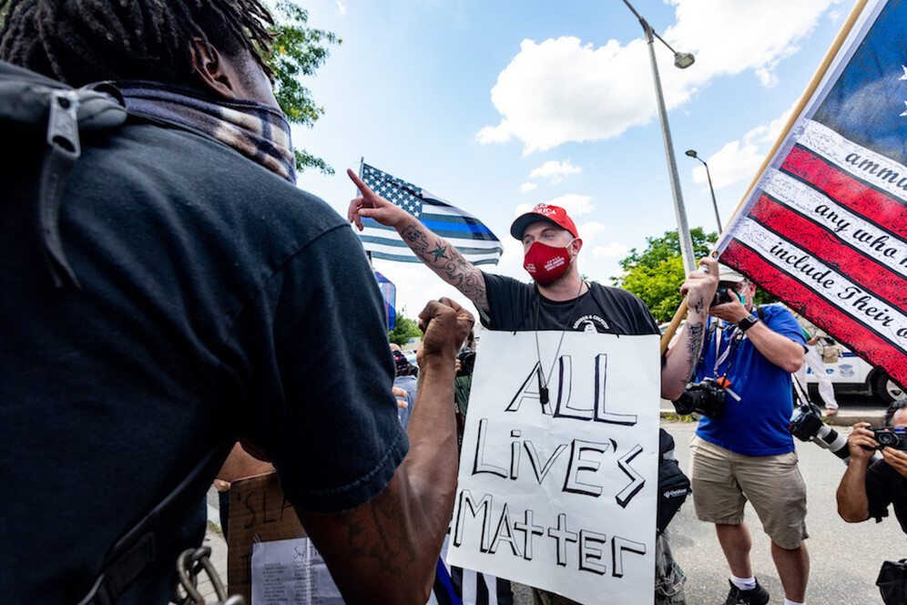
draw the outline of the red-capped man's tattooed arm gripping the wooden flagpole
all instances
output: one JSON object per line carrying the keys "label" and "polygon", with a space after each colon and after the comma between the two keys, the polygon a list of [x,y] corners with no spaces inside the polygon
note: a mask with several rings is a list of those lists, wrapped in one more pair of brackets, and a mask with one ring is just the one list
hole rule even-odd
{"label": "red-capped man's tattooed arm gripping the wooden flagpole", "polygon": [[677,399],[687,386],[702,352],[708,322],[708,303],[718,287],[718,262],[700,261],[702,269],[690,272],[680,292],[687,296],[687,323],[677,342],[668,350],[668,360],[661,369],[661,396]]}

